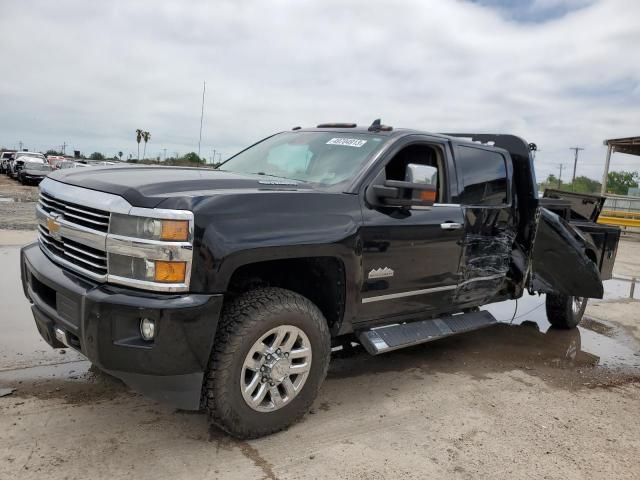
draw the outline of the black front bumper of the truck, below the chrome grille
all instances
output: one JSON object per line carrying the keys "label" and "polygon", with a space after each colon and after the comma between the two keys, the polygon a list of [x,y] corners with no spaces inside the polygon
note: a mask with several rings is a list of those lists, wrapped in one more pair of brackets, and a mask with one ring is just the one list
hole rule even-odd
{"label": "black front bumper of the truck, below the chrome grille", "polygon": [[[53,263],[37,243],[24,247],[20,257],[24,293],[52,347],[82,352],[151,398],[199,409],[222,295],[156,294],[96,283]],[[155,321],[151,342],[140,336],[143,317]]]}

